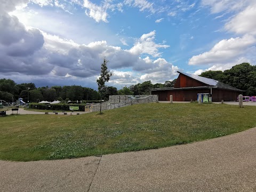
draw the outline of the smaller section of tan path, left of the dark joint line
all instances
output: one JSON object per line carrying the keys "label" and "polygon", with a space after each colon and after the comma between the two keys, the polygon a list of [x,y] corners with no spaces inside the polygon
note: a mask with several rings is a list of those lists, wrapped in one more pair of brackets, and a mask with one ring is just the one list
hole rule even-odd
{"label": "smaller section of tan path, left of the dark joint line", "polygon": [[88,191],[100,157],[0,161],[0,191]]}

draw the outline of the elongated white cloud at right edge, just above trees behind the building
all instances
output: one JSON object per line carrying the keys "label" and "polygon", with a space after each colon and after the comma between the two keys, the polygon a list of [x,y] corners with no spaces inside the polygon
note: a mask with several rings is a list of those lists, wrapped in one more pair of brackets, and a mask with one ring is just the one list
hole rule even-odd
{"label": "elongated white cloud at right edge, just above trees behind the building", "polygon": [[189,65],[214,65],[215,63],[230,62],[230,60],[242,57],[255,43],[256,39],[251,35],[223,39],[215,44],[209,52],[190,58]]}

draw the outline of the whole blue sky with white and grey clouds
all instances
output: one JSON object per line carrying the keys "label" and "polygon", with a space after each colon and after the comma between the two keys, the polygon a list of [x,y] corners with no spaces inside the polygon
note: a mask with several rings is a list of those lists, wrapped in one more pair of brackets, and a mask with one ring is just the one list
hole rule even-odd
{"label": "whole blue sky with white and grey clouds", "polygon": [[97,90],[256,65],[256,0],[0,0],[0,78]]}

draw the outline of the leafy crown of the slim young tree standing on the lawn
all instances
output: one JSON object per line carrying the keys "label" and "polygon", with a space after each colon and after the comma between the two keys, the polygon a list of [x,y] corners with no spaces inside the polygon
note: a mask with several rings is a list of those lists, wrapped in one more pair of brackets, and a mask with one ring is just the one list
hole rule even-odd
{"label": "leafy crown of the slim young tree standing on the lawn", "polygon": [[100,77],[97,78],[98,90],[100,92],[101,99],[103,96],[102,91],[103,91],[103,88],[105,87],[105,82],[108,82],[110,77],[112,76],[112,73],[108,70],[108,67],[107,67],[108,62],[109,61],[106,60],[106,58],[104,58],[103,63],[101,64]]}

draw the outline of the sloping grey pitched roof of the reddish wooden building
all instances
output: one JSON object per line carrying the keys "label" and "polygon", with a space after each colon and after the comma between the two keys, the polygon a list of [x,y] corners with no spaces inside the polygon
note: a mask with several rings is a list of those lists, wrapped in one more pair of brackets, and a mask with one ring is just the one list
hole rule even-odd
{"label": "sloping grey pitched roof of the reddish wooden building", "polygon": [[201,76],[197,76],[197,75],[193,75],[193,74],[187,74],[187,73],[183,73],[183,72],[179,72],[180,74],[186,75],[190,78],[195,79],[196,81],[202,82],[206,85],[210,85],[210,86],[216,86],[219,89],[226,89],[226,90],[233,90],[233,91],[243,91],[243,90],[239,90],[236,87],[227,85],[225,83],[222,83],[220,81],[214,80],[214,79],[210,79],[210,78],[206,78],[206,77],[201,77]]}

